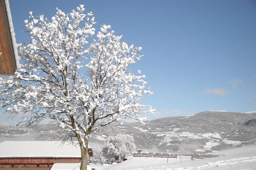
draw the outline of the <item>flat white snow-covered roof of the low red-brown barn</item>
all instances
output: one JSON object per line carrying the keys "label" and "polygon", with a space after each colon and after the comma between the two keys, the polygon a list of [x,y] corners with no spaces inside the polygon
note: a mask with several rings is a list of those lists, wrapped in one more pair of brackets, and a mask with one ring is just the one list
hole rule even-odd
{"label": "flat white snow-covered roof of the low red-brown barn", "polygon": [[[90,146],[89,149],[92,150]],[[74,157],[80,158],[79,145],[59,141],[4,141],[0,143],[0,157]]]}

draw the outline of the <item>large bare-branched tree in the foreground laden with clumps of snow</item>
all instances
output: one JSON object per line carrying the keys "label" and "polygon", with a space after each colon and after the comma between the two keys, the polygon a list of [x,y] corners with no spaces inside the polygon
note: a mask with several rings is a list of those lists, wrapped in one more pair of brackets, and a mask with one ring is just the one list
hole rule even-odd
{"label": "large bare-branched tree in the foreground laden with clumps of snow", "polygon": [[20,123],[38,124],[51,119],[65,131],[62,141],[77,138],[81,169],[87,169],[89,136],[97,128],[127,117],[145,120],[153,113],[140,104],[145,75],[133,74],[130,64],[139,60],[141,47],[121,42],[110,25],[95,36],[92,12],[83,5],[69,14],[57,8],[51,19],[30,13],[25,26],[30,42],[19,44],[20,66],[15,76],[0,77],[1,107]]}

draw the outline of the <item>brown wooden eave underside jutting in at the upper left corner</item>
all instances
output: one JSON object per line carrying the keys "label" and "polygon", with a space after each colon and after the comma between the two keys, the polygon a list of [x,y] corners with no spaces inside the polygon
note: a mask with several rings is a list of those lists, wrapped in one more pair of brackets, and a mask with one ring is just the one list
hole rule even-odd
{"label": "brown wooden eave underside jutting in at the upper left corner", "polygon": [[0,0],[0,74],[14,74],[15,70],[16,60],[5,1]]}

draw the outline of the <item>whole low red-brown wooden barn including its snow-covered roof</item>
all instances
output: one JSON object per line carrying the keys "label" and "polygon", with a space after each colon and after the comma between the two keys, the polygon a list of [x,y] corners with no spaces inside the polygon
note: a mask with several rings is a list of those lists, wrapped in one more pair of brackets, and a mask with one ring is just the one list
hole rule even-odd
{"label": "whole low red-brown wooden barn including its snow-covered roof", "polygon": [[[88,146],[88,161],[93,155]],[[0,143],[0,169],[50,169],[55,163],[80,163],[79,145],[59,141],[5,141]]]}

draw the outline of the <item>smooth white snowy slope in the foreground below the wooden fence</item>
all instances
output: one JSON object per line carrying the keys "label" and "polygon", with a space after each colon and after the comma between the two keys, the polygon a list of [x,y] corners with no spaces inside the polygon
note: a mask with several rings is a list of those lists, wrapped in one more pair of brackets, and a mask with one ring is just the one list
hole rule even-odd
{"label": "smooth white snowy slope in the foreground below the wooden fence", "polygon": [[242,147],[214,152],[215,154],[225,154],[224,156],[190,160],[189,156],[181,156],[177,159],[170,158],[167,164],[167,158],[131,158],[119,164],[89,165],[97,170],[182,170],[182,169],[208,169],[208,170],[239,170],[255,169],[256,166],[256,146]]}

